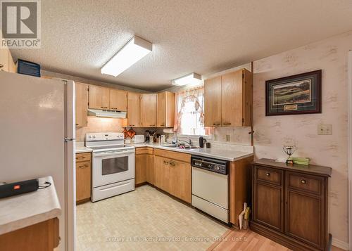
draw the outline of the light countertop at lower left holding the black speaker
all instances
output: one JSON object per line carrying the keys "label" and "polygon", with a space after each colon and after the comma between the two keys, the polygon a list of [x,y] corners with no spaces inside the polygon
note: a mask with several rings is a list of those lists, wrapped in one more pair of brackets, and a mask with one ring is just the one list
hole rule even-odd
{"label": "light countertop at lower left holding the black speaker", "polygon": [[51,186],[30,193],[0,199],[0,235],[61,215],[61,206],[51,176],[39,178],[39,186]]}

